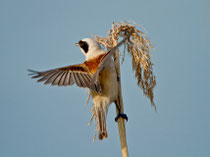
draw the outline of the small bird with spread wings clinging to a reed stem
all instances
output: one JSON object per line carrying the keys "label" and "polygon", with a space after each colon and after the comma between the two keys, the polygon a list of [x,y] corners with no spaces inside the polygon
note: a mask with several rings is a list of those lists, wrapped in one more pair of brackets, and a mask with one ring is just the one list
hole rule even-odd
{"label": "small bird with spread wings clinging to a reed stem", "polygon": [[122,117],[128,120],[126,114],[121,112],[118,95],[119,77],[114,64],[114,53],[127,39],[127,35],[119,44],[105,52],[100,44],[92,38],[84,38],[75,45],[85,55],[86,60],[82,64],[69,65],[47,71],[28,70],[31,77],[38,79],[37,82],[57,86],[71,86],[88,88],[92,96],[93,106],[96,113],[98,139],[108,137],[107,113],[111,103],[115,103],[118,115],[115,121]]}

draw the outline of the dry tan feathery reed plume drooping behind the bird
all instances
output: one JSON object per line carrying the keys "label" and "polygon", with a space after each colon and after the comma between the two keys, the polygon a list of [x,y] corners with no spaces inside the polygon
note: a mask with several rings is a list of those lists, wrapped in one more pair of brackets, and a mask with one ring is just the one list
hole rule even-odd
{"label": "dry tan feathery reed plume drooping behind the bird", "polygon": [[[132,58],[132,69],[137,79],[137,85],[143,90],[144,95],[150,99],[152,106],[156,110],[153,94],[156,79],[153,73],[150,52],[150,49],[153,48],[153,46],[145,33],[140,31],[137,27],[136,24],[131,25],[127,22],[119,22],[117,24],[113,23],[112,28],[106,37],[95,36],[94,38],[98,43],[102,44],[107,50],[109,50],[117,45],[119,37],[123,37],[130,31],[133,31],[130,39],[124,43],[122,62],[125,58],[125,52],[127,51]],[[91,111],[93,115],[90,123],[95,117],[94,108],[92,108]]]}

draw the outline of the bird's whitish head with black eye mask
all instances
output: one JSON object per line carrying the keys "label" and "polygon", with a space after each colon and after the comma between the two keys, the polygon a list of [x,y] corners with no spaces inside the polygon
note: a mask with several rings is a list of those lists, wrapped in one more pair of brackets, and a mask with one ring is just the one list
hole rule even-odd
{"label": "bird's whitish head with black eye mask", "polygon": [[82,53],[86,57],[86,60],[92,59],[100,54],[105,53],[101,49],[100,45],[91,38],[82,39],[75,45],[77,45],[81,49]]}

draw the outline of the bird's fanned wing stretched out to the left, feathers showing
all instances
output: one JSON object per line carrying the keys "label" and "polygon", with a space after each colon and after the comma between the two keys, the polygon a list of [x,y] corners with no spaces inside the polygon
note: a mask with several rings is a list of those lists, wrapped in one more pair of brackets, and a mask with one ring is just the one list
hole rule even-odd
{"label": "bird's fanned wing stretched out to the left, feathers showing", "polygon": [[71,86],[76,83],[77,86],[89,88],[97,93],[100,93],[100,85],[92,82],[92,75],[83,64],[71,65],[62,68],[52,69],[48,71],[38,72],[28,70],[31,72],[32,78],[39,78],[37,82],[44,82],[44,84],[51,84],[57,86]]}

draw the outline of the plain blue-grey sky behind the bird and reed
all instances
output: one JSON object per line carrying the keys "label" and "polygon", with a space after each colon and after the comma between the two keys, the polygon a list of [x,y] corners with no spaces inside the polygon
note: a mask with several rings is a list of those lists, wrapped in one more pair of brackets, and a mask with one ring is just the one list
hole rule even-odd
{"label": "plain blue-grey sky behind the bird and reed", "polygon": [[134,20],[152,40],[157,113],[136,86],[127,55],[122,89],[131,157],[210,156],[208,0],[1,0],[0,156],[121,156],[115,106],[109,138],[94,143],[84,89],[36,83],[27,69],[81,63],[73,44]]}

